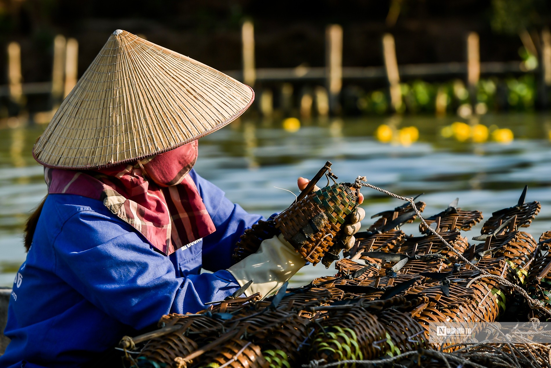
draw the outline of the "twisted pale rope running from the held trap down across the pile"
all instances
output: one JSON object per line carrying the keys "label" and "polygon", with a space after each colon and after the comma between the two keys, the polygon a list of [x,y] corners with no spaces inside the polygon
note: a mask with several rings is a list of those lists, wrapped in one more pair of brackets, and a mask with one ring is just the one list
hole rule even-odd
{"label": "twisted pale rope running from the held trap down across the pile", "polygon": [[484,269],[481,269],[479,267],[477,267],[476,265],[474,265],[471,261],[469,261],[467,258],[465,258],[462,254],[460,254],[457,249],[453,248],[453,246],[451,246],[450,243],[448,243],[446,241],[446,239],[444,239],[444,237],[442,237],[439,233],[436,232],[436,230],[434,230],[432,227],[429,226],[428,223],[426,223],[425,219],[423,218],[423,216],[421,215],[421,211],[419,211],[419,209],[417,208],[417,206],[415,206],[415,200],[413,198],[406,198],[406,197],[403,197],[401,195],[397,195],[397,194],[394,194],[388,190],[385,190],[385,189],[381,189],[379,188],[378,186],[375,186],[375,185],[371,185],[369,183],[367,183],[367,178],[366,177],[362,177],[362,176],[359,176],[358,178],[356,178],[356,181],[355,181],[355,185],[357,186],[367,186],[368,188],[371,188],[371,189],[375,189],[375,190],[378,190],[380,191],[381,193],[385,193],[386,195],[390,195],[391,197],[394,197],[396,199],[399,199],[399,200],[402,200],[402,201],[406,201],[406,202],[409,202],[411,205],[412,205],[412,208],[413,210],[415,211],[415,213],[417,214],[417,216],[419,216],[419,220],[421,220],[421,222],[423,223],[423,225],[426,226],[426,228],[428,228],[428,230],[434,234],[434,236],[436,236],[437,238],[440,239],[440,241],[442,243],[445,244],[445,246],[450,249],[453,253],[455,253],[457,255],[458,258],[460,258],[463,262],[467,263],[469,266],[471,266],[473,269],[477,270],[480,274],[482,275],[479,275],[477,276],[476,278],[474,278],[473,280],[469,281],[469,283],[467,284],[467,286],[471,286],[471,284],[477,280],[480,280],[480,279],[483,279],[483,278],[490,278],[490,279],[494,279],[496,281],[499,281],[501,284],[505,285],[505,286],[509,286],[509,287],[512,287],[513,289],[515,289],[516,291],[519,292],[519,294],[521,294],[523,297],[526,298],[526,300],[528,301],[528,305],[530,306],[530,308],[532,309],[539,309],[539,310],[542,310],[544,311],[545,313],[547,313],[549,316],[551,316],[551,310],[548,310],[547,308],[545,308],[545,304],[542,303],[541,301],[539,300],[536,300],[536,299],[533,299],[532,297],[530,297],[530,295],[528,295],[528,293],[526,292],[526,290],[522,289],[522,287],[518,286],[518,285],[515,285],[515,284],[512,284],[512,282],[506,280],[505,278],[503,278],[502,276],[498,276],[498,275],[492,275],[490,274],[487,270],[484,270]]}

